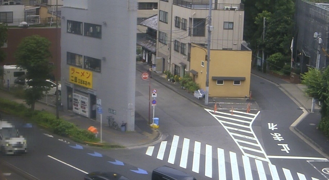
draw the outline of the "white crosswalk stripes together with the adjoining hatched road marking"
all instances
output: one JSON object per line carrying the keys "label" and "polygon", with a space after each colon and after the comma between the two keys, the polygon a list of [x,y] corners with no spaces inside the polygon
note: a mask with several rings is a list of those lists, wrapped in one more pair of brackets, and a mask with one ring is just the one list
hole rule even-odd
{"label": "white crosswalk stripes together with the adjoining hatched road marking", "polygon": [[160,146],[148,146],[145,154],[219,180],[306,180],[304,174],[291,173],[289,169],[277,168],[270,162],[251,128],[259,112],[252,114],[233,110],[230,113],[214,113],[213,110],[205,110],[223,125],[242,153],[226,152],[210,144],[173,135],[172,140],[162,141]]}

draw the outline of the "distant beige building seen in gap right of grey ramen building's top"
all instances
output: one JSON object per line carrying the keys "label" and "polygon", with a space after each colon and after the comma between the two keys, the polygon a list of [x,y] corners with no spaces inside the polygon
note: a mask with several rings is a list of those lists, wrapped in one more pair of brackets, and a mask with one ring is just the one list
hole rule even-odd
{"label": "distant beige building seen in gap right of grey ramen building's top", "polygon": [[148,17],[151,17],[158,13],[158,2],[159,0],[138,0],[137,10],[137,38],[145,36],[147,27],[140,23]]}

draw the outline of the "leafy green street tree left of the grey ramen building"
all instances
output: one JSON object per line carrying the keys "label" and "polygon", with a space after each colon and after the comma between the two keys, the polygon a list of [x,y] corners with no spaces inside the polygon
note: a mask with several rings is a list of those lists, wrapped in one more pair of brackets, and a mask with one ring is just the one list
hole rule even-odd
{"label": "leafy green street tree left of the grey ramen building", "polygon": [[25,90],[26,103],[34,110],[35,102],[44,95],[43,92],[50,89],[48,79],[52,68],[49,66],[49,50],[51,42],[39,35],[25,37],[17,46],[15,52],[16,63],[27,70],[26,79],[28,88]]}

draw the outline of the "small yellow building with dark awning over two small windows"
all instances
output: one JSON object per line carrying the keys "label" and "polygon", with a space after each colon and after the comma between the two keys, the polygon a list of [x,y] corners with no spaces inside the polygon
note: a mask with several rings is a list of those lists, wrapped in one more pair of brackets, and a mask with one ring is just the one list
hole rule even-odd
{"label": "small yellow building with dark awning over two small windows", "polygon": [[[191,44],[190,76],[205,90],[207,49]],[[211,50],[209,97],[249,97],[251,51]]]}

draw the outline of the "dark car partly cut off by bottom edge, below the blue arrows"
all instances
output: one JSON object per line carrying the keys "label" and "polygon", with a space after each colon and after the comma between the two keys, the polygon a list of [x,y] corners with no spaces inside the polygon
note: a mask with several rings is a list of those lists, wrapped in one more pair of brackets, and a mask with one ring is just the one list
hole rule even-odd
{"label": "dark car partly cut off by bottom edge, below the blue arrows", "polygon": [[91,172],[85,175],[84,180],[129,180],[116,172]]}

